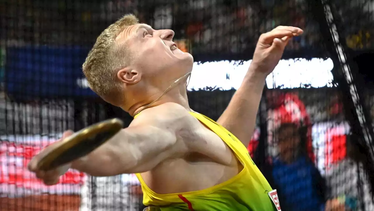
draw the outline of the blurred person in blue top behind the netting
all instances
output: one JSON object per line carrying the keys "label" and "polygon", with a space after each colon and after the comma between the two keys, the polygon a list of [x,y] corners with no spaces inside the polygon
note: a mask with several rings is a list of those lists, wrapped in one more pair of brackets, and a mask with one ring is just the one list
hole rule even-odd
{"label": "blurred person in blue top behind the netting", "polygon": [[325,180],[309,158],[306,128],[284,123],[276,130],[279,155],[270,164],[269,182],[288,211],[325,210]]}

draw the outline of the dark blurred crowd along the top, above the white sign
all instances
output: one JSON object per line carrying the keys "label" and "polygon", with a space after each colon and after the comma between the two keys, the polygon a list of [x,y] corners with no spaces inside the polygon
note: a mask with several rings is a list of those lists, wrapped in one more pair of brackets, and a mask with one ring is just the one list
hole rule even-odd
{"label": "dark blurred crowd along the top, above the white sign", "polygon": [[[333,1],[349,25],[343,31],[349,46],[373,47],[370,0]],[[1,4],[0,37],[8,45],[90,45],[108,24],[126,13],[137,14],[155,29],[173,29],[177,39],[190,40],[193,52],[252,50],[261,33],[278,25],[305,31],[289,49],[313,49],[322,39],[306,0],[8,0]]]}

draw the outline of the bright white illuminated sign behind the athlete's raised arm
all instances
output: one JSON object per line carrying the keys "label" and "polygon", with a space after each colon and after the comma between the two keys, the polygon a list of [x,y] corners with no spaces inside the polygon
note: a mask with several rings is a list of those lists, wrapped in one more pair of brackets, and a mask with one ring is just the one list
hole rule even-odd
{"label": "bright white illuminated sign behind the athlete's raised arm", "polygon": [[[227,60],[199,64],[194,62],[187,90],[199,90],[206,87],[220,88],[220,90],[238,89],[251,62],[252,60],[242,63]],[[266,78],[266,84],[269,89],[332,87],[331,70],[333,67],[331,59],[281,60]],[[79,87],[89,88],[85,78],[77,79],[76,83]]]}

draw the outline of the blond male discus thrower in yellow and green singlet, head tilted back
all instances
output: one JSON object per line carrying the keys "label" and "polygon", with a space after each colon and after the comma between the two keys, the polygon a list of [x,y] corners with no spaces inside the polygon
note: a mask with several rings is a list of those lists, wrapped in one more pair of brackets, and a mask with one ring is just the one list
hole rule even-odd
{"label": "blond male discus thrower in yellow and green singlet, head tilted back", "polygon": [[[280,26],[260,36],[240,88],[216,123],[188,105],[186,81],[193,58],[173,43],[174,32],[154,30],[125,15],[99,35],[83,72],[93,91],[134,121],[70,167],[92,176],[137,173],[143,203],[162,211],[280,210],[276,192],[245,146],[265,78],[289,39],[301,33]],[[58,182],[61,168],[43,172],[36,163],[52,148],[29,164],[47,185]]]}

